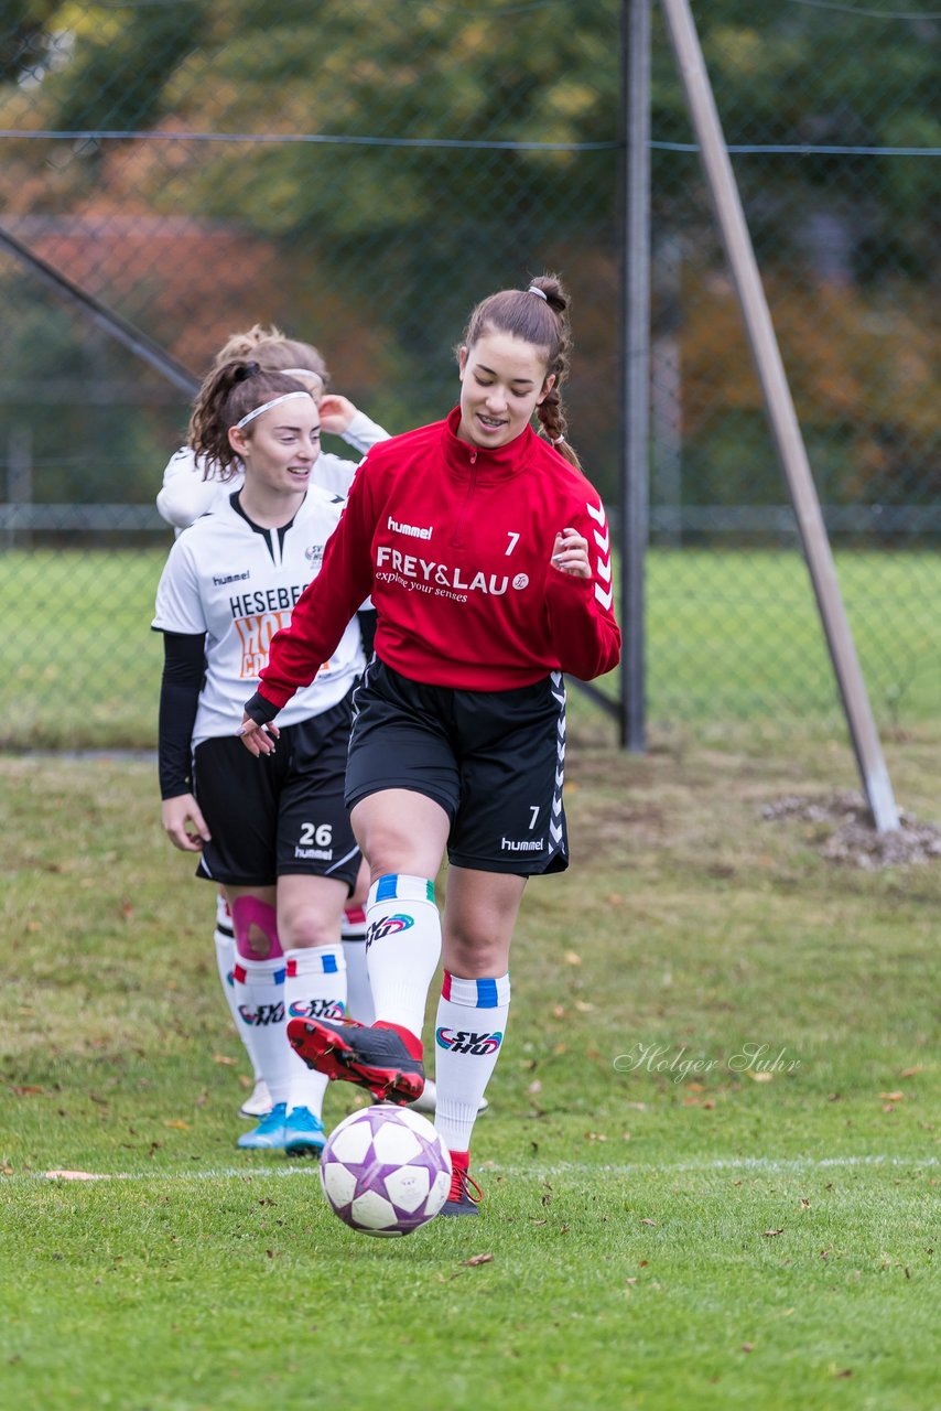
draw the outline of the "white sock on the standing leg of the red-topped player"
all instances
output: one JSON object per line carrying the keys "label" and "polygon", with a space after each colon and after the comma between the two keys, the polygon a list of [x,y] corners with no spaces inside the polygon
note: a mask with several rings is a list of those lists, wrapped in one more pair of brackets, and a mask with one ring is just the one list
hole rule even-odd
{"label": "white sock on the standing leg of the red-topped player", "polygon": [[449,1151],[468,1151],[480,1099],[497,1065],[506,1016],[509,975],[459,979],[444,971],[435,1020],[435,1127]]}

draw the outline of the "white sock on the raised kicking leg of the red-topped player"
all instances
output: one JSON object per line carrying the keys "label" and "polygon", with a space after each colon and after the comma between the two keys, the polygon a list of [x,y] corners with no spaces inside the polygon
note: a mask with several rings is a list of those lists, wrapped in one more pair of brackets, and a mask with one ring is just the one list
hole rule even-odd
{"label": "white sock on the raised kicking leg of the red-topped player", "polygon": [[420,1038],[427,986],[442,954],[435,883],[394,872],[380,878],[370,888],[365,919],[375,1017]]}

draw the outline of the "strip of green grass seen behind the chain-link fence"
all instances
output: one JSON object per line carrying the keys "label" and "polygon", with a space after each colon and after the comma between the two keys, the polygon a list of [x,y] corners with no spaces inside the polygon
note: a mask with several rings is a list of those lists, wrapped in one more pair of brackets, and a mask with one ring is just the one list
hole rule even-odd
{"label": "strip of green grass seen behind the chain-link fence", "polygon": [[[162,550],[0,556],[7,610],[0,748],[147,748],[161,641],[150,632]],[[937,718],[941,556],[838,559],[880,725]],[[839,722],[807,570],[786,552],[653,552],[648,581],[653,729],[782,720]],[[617,694],[617,677],[607,683]]]}

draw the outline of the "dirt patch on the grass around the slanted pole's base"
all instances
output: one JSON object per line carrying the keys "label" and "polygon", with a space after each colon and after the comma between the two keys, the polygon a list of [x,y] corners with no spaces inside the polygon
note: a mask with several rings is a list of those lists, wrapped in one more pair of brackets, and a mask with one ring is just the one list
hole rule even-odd
{"label": "dirt patch on the grass around the slanted pole's base", "polygon": [[796,818],[815,824],[821,832],[821,856],[868,872],[941,861],[941,828],[918,823],[913,814],[900,810],[897,828],[876,832],[861,793],[834,793],[817,799],[786,794],[765,804],[760,816],[769,823]]}

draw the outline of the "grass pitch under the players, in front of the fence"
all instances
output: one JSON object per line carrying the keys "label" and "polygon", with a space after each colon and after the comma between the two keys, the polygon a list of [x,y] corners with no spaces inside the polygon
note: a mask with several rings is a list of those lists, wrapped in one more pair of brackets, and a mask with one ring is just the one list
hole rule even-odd
{"label": "grass pitch under the players, in front of the fence", "polygon": [[[841,741],[605,732],[571,732],[576,866],[525,900],[481,1218],[402,1242],[234,1150],[212,893],[152,762],[0,759],[4,1408],[938,1404],[941,865],[762,821],[854,783]],[[941,821],[937,728],[887,748]]]}

